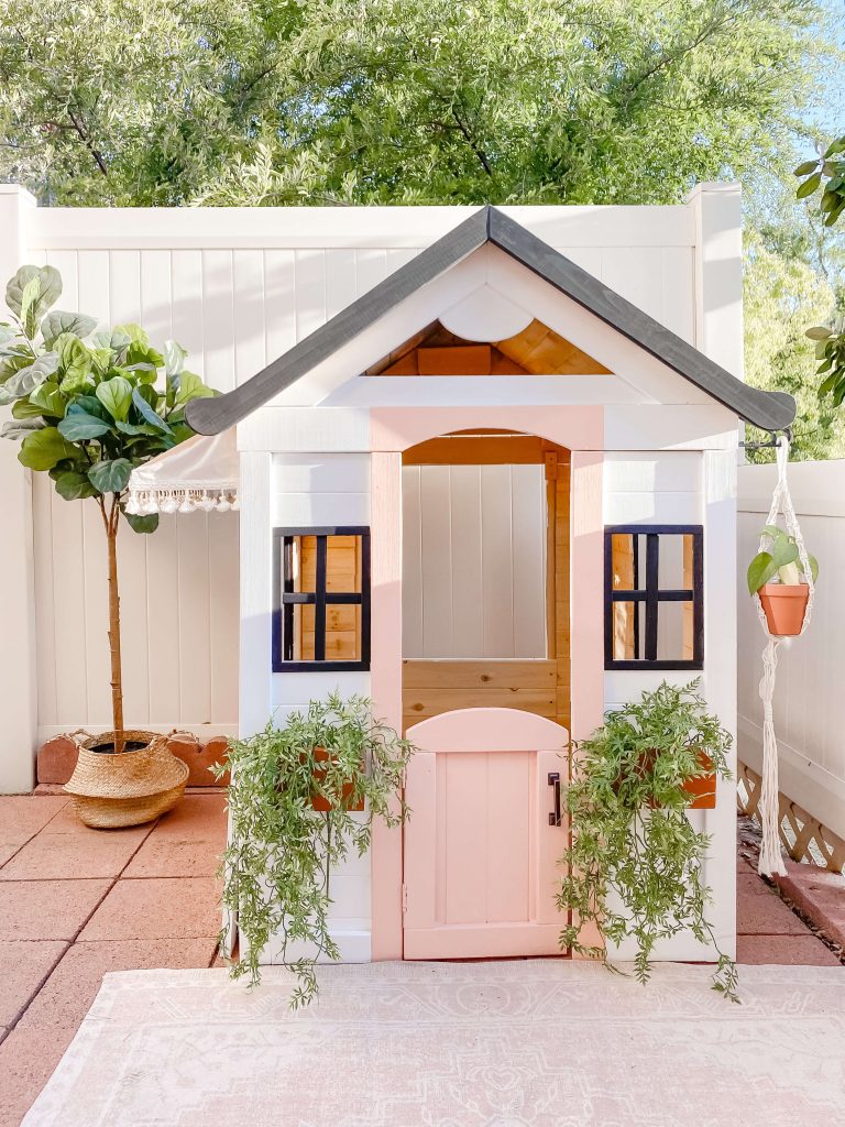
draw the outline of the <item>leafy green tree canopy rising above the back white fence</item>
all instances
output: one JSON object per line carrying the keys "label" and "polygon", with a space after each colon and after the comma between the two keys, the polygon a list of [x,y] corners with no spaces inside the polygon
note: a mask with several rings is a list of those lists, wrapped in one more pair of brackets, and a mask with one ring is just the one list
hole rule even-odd
{"label": "leafy green tree canopy rising above the back white fence", "polygon": [[54,203],[676,202],[783,151],[818,19],[815,0],[8,0],[0,175]]}

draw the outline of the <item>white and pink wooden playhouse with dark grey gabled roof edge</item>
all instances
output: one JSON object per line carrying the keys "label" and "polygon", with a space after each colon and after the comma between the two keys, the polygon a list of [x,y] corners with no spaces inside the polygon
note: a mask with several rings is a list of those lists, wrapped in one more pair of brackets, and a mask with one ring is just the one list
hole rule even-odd
{"label": "white and pink wooden playhouse with dark grey gabled roof edge", "polygon": [[[711,188],[697,212],[729,248],[731,205]],[[738,378],[719,238],[702,261],[701,231],[691,255],[656,236],[628,300],[601,256],[551,245],[567,211],[471,213],[189,407],[230,459],[237,433],[242,734],[337,687],[419,748],[404,831],[375,827],[332,878],[345,959],[558,953],[570,733],[694,677],[736,730],[738,425],[783,428],[794,405]],[[582,232],[612,210],[578,211]],[[692,214],[648,211],[664,242]],[[662,319],[641,308],[655,281]],[[691,817],[713,838],[711,919],[732,951],[732,786]],[[706,958],[684,934],[660,953]]]}

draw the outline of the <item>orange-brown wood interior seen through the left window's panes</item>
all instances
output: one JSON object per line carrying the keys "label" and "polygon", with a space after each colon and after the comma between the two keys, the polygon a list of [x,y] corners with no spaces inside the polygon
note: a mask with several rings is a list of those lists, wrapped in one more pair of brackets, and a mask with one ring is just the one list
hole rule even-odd
{"label": "orange-brown wood interior seen through the left window's panes", "polygon": [[[300,583],[297,591],[317,586],[317,539],[300,536]],[[361,591],[361,540],[329,536],[326,552],[326,591]],[[294,660],[314,658],[314,607],[302,605]],[[326,660],[356,662],[361,658],[361,607],[326,607]]]}

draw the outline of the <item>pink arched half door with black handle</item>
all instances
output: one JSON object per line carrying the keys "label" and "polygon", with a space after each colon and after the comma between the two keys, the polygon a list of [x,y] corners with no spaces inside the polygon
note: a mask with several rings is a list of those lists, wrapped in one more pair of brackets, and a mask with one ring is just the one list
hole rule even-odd
{"label": "pink arched half door with black handle", "polygon": [[566,728],[508,708],[409,728],[404,957],[558,955]]}

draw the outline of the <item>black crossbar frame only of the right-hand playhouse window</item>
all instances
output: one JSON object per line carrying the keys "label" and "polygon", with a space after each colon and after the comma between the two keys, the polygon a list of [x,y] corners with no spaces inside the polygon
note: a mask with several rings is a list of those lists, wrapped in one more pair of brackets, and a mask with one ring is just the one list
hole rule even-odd
{"label": "black crossbar frame only of the right-hand playhouse window", "polygon": [[[613,586],[613,538],[614,535],[647,536],[646,541],[646,586],[637,591],[616,589]],[[693,539],[693,586],[691,588],[660,588],[658,567],[660,560],[660,536],[692,536]],[[634,543],[634,560],[638,560]],[[657,653],[658,607],[660,603],[682,602],[693,604],[693,657],[666,659],[648,657]],[[646,639],[643,653],[637,659],[619,659],[613,656],[613,604],[646,604]],[[639,614],[634,618],[634,629],[639,636]],[[604,667],[605,669],[703,669],[704,668],[704,527],[701,524],[613,524],[604,530]]]}

